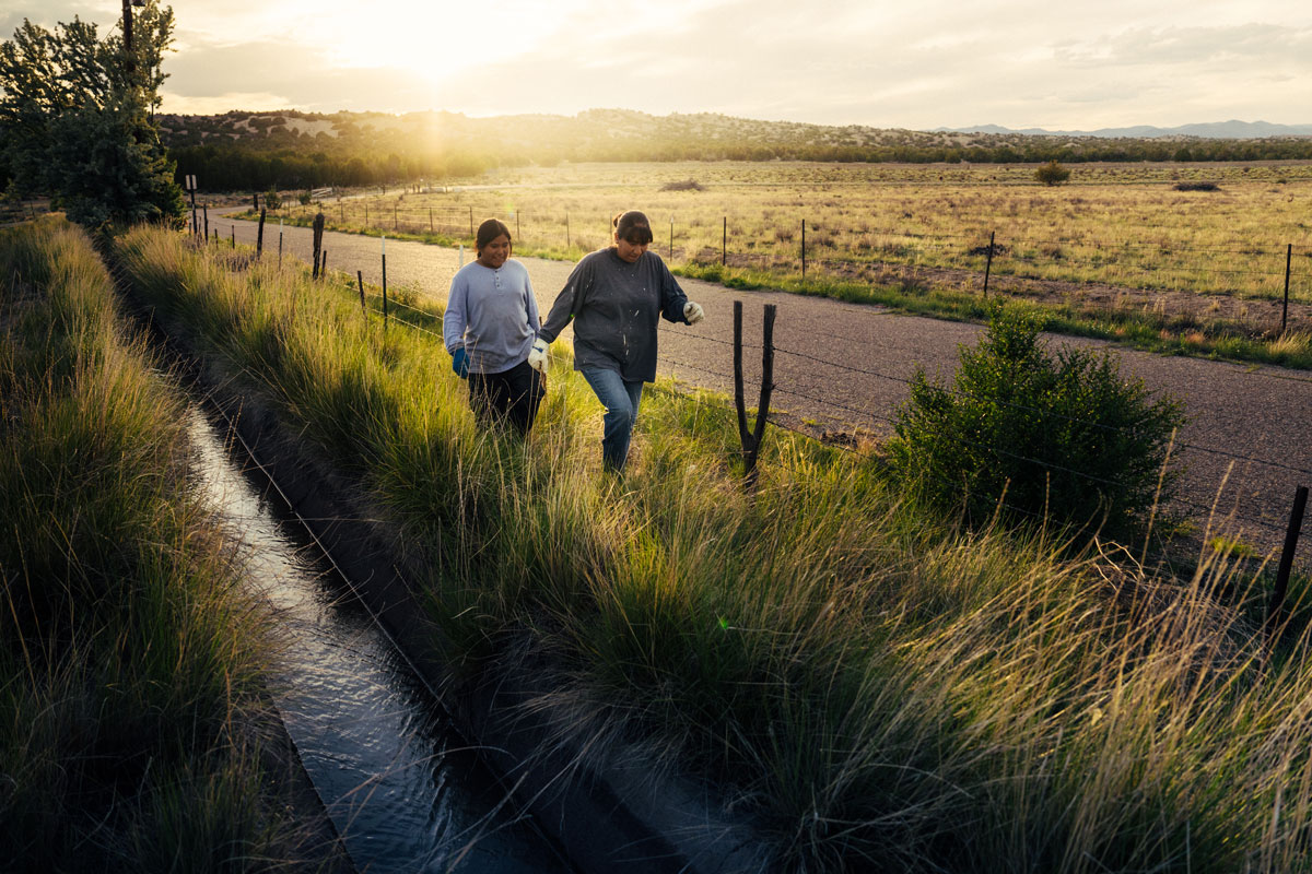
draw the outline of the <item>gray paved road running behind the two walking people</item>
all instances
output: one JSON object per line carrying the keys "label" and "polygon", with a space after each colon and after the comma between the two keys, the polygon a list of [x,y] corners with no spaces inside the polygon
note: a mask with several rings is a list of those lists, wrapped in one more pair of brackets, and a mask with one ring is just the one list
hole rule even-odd
{"label": "gray paved road running behind the two walking people", "polygon": [[[224,242],[235,228],[240,242],[255,242],[255,224],[211,212],[211,227]],[[278,249],[278,227],[265,228],[265,250]],[[289,256],[310,261],[308,228],[283,229]],[[380,242],[346,233],[324,235],[329,269],[362,271],[379,282]],[[471,253],[464,254],[472,257]],[[390,288],[409,287],[445,300],[458,269],[457,250],[420,242],[387,241]],[[573,265],[523,258],[542,312],[550,308]],[[733,291],[695,279],[680,279],[687,296],[706,308],[706,321],[689,328],[663,324],[663,373],[690,384],[732,392],[733,300],[744,301],[745,342],[761,342],[761,305],[778,305],[774,342],[773,406],[783,421],[811,430],[865,428],[891,432],[891,418],[907,397],[907,380],[917,367],[950,377],[958,345],[975,343],[976,325],[899,316],[879,307],[846,304],[783,292]],[[568,330],[565,333],[568,337]],[[1098,341],[1054,337],[1055,345],[1103,347]],[[1190,515],[1206,520],[1214,502],[1221,515],[1235,511],[1242,536],[1262,549],[1283,542],[1295,487],[1312,485],[1312,373],[1274,367],[1239,366],[1190,358],[1166,358],[1120,350],[1122,371],[1139,376],[1153,390],[1169,390],[1186,402],[1191,418],[1179,440],[1187,465],[1182,499]],[[744,354],[748,402],[756,394],[760,352]],[[830,364],[832,362],[832,364]],[[1253,459],[1245,460],[1245,459]],[[1227,480],[1227,470],[1229,470]],[[1225,481],[1224,489],[1221,482]],[[1312,565],[1312,524],[1299,548],[1299,563]]]}

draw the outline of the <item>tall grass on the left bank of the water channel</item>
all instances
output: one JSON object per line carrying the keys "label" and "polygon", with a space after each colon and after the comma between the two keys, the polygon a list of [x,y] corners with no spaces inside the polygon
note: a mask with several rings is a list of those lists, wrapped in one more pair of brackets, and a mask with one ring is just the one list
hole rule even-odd
{"label": "tall grass on the left bank of the water channel", "polygon": [[182,404],[80,231],[4,232],[0,276],[0,866],[281,866],[273,641],[189,491]]}

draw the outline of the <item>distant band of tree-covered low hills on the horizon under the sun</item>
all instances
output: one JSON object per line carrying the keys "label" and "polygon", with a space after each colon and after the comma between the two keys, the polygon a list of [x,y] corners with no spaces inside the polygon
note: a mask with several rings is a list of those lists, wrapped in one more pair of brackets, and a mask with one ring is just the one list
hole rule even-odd
{"label": "distant band of tree-covered low hills on the horizon under the sun", "polygon": [[[299,139],[299,142],[298,142]],[[398,138],[399,140],[400,138]],[[274,142],[218,139],[172,145],[178,180],[194,173],[211,191],[312,189],[321,186],[404,185],[420,180],[471,177],[492,168],[552,166],[562,161],[837,161],[907,164],[1042,164],[1060,161],[1257,161],[1312,160],[1312,139],[1261,140],[1131,140],[1077,144],[1054,138],[1027,138],[1002,145],[928,147],[827,145],[800,143],[732,143],[724,140],[588,142],[527,148],[489,142],[461,143],[454,151],[413,151],[399,143],[380,152],[369,138],[327,135],[278,138]]]}

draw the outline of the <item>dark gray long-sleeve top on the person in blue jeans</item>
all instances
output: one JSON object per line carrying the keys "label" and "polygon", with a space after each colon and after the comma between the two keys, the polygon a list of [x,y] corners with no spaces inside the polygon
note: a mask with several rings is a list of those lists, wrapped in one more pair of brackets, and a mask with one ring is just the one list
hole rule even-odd
{"label": "dark gray long-sleeve top on the person in blue jeans", "polygon": [[548,343],[573,320],[575,370],[619,371],[631,381],[656,379],[657,318],[684,322],[687,297],[655,252],[628,263],[615,249],[584,256],[551,305],[538,337]]}

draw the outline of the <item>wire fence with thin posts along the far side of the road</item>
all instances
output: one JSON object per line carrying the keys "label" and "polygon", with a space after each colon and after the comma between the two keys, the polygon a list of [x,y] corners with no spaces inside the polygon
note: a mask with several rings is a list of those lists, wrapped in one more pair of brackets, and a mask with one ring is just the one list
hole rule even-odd
{"label": "wire fence with thin posts along the far side of the road", "polygon": [[[319,211],[344,228],[440,236],[468,245],[472,245],[478,218],[492,215],[512,228],[514,240],[521,245],[562,252],[605,245],[610,231],[609,216],[504,210],[476,212],[474,206],[413,208],[405,204],[404,195],[392,199],[338,199],[336,204],[291,204],[281,215],[304,221]],[[792,227],[775,227],[773,238],[768,240],[744,240],[741,233],[731,233],[732,228],[743,224],[739,218],[731,221],[728,215],[722,216],[719,248],[701,245],[694,250],[687,238],[695,228],[699,240],[706,242],[708,231],[703,219],[687,225],[670,219],[668,235],[666,225],[656,221],[653,231],[660,238],[653,240],[652,248],[672,263],[681,262],[693,269],[741,269],[812,284],[892,283],[914,292],[929,284],[949,282],[959,291],[985,296],[989,290],[1022,296],[1039,294],[1044,283],[1145,294],[1193,292],[1199,295],[1198,307],[1202,311],[1195,322],[1211,318],[1206,309],[1212,301],[1203,296],[1239,297],[1241,303],[1233,308],[1237,314],[1228,314],[1228,321],[1248,325],[1254,333],[1267,337],[1286,334],[1291,303],[1295,307],[1312,303],[1312,244],[1302,241],[1206,248],[1178,240],[1008,237],[983,224],[966,233],[863,224],[861,241],[845,246],[836,240],[836,229],[821,228],[806,218],[798,219]],[[684,248],[678,245],[681,240]],[[945,271],[953,275],[945,276]],[[1110,309],[1115,303],[1103,304],[1103,308]],[[1278,305],[1279,312],[1271,312],[1271,304]],[[1296,312],[1295,326],[1307,332],[1307,318],[1304,316],[1300,321]]]}

